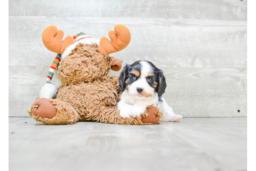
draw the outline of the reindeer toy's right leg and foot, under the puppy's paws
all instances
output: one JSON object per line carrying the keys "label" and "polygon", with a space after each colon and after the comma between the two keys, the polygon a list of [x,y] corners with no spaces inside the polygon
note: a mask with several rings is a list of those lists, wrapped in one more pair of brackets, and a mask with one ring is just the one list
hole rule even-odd
{"label": "reindeer toy's right leg and foot, under the puppy's paws", "polygon": [[93,111],[87,115],[89,120],[99,121],[103,123],[125,124],[125,125],[143,125],[143,124],[156,124],[162,117],[155,106],[147,107],[145,113],[140,117],[123,118],[120,116],[120,111],[116,108],[102,106],[100,109]]}

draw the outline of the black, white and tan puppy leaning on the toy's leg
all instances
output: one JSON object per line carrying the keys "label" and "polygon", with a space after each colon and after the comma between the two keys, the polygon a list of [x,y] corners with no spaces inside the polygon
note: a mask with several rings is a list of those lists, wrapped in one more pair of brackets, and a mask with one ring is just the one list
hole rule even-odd
{"label": "black, white and tan puppy leaning on the toy's leg", "polygon": [[150,105],[159,107],[163,113],[161,121],[176,122],[182,118],[174,114],[162,96],[166,88],[162,70],[149,61],[127,64],[121,71],[119,88],[123,94],[117,108],[123,118],[140,116]]}

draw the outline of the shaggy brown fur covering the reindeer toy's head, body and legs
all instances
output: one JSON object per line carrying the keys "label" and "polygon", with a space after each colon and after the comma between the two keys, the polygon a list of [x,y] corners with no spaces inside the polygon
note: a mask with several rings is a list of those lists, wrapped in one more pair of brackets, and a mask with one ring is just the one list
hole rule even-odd
{"label": "shaggy brown fur covering the reindeer toy's head, body and legs", "polygon": [[[47,99],[56,105],[56,116],[52,119],[34,116],[32,109],[38,107],[34,104],[29,114],[45,124],[66,124],[78,119],[127,125],[160,123],[162,113],[153,106],[140,117],[122,118],[119,115],[117,102],[121,92],[118,77],[106,76],[114,61],[121,63],[117,58],[99,53],[97,44],[79,43],[60,62],[57,73],[62,86],[56,99]],[[154,116],[149,116],[150,111]],[[145,117],[144,121],[142,117]]]}

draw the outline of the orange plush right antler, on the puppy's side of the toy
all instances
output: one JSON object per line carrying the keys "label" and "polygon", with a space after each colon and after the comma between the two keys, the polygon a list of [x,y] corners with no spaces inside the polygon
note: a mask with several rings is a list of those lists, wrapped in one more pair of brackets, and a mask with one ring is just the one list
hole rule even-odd
{"label": "orange plush right antler, on the puppy's side of the toy", "polygon": [[106,37],[100,40],[99,51],[101,54],[110,54],[125,49],[131,41],[131,34],[127,27],[116,25],[114,30],[108,32],[109,41]]}

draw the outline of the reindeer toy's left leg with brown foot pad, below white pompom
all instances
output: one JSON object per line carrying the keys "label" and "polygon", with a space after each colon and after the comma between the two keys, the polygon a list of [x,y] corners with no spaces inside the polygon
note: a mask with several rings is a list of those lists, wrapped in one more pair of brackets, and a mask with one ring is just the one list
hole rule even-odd
{"label": "reindeer toy's left leg with brown foot pad, below white pompom", "polygon": [[37,98],[28,113],[44,124],[69,124],[80,118],[70,104],[51,98]]}

